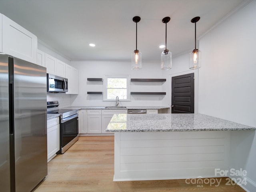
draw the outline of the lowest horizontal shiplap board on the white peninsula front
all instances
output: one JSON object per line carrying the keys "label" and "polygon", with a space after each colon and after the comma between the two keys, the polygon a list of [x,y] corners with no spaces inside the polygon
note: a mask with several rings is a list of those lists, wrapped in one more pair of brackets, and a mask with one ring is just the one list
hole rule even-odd
{"label": "lowest horizontal shiplap board on the white peninsula front", "polygon": [[[158,163],[129,163],[120,164],[120,171],[139,170],[173,170],[173,169],[193,169],[193,168],[219,168],[224,164],[220,161],[196,161],[196,162],[158,162]],[[214,174],[214,173],[212,173]]]}

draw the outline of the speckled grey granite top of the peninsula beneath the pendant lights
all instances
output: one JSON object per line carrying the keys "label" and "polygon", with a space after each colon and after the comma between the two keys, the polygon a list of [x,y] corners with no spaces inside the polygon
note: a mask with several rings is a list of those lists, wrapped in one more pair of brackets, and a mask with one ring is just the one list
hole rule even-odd
{"label": "speckled grey granite top of the peninsula beneath the pendant lights", "polygon": [[255,128],[204,114],[114,114],[106,132],[226,130]]}

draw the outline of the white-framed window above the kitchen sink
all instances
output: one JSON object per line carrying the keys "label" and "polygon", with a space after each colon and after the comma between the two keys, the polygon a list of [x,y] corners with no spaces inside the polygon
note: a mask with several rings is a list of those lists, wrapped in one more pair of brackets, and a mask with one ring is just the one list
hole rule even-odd
{"label": "white-framed window above the kitchen sink", "polygon": [[104,100],[130,100],[130,76],[106,75],[104,84]]}

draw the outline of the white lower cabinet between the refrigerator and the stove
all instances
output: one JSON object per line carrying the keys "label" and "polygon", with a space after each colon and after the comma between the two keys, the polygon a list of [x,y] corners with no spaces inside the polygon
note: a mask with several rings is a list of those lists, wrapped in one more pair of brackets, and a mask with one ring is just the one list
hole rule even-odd
{"label": "white lower cabinet between the refrigerator and the stove", "polygon": [[56,156],[60,150],[60,120],[53,118],[47,120],[47,160],[48,162]]}

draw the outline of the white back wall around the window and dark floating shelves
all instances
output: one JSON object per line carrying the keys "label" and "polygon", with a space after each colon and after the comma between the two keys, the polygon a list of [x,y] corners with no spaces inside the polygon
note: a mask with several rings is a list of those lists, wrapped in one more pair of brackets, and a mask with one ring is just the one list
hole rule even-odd
{"label": "white back wall around the window and dark floating shelves", "polygon": [[[131,75],[131,78],[165,78],[160,62],[143,62],[142,70],[131,70],[130,61],[73,61],[70,65],[79,70],[79,94],[71,96],[72,106],[114,106],[114,101],[102,101],[102,95],[87,95],[88,91],[103,91],[103,82],[88,82],[87,78],[103,78],[104,75]],[[132,82],[132,92],[163,92],[168,82]],[[161,95],[132,95],[131,101],[121,101],[120,106],[162,106]]]}

